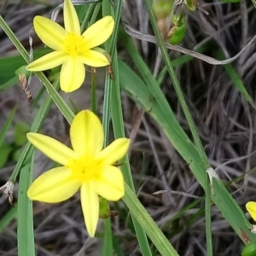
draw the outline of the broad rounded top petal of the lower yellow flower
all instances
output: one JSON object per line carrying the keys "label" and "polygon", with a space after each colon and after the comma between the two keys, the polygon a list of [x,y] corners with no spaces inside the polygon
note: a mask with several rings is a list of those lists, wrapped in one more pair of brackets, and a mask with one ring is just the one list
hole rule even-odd
{"label": "broad rounded top petal of the lower yellow flower", "polygon": [[104,134],[100,119],[90,110],[80,111],[70,127],[70,139],[76,154],[95,156],[102,150]]}

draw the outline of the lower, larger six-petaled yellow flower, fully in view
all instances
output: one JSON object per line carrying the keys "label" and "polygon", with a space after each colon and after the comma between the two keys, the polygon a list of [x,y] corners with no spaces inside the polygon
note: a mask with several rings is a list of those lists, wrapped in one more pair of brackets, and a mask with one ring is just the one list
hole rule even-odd
{"label": "lower, larger six-petaled yellow flower, fully in view", "polygon": [[125,194],[122,172],[113,163],[125,155],[130,140],[119,138],[102,149],[102,124],[90,110],[75,116],[70,137],[73,149],[52,137],[27,133],[27,139],[36,148],[62,165],[39,176],[27,190],[27,196],[31,200],[55,203],[67,200],[80,189],[85,226],[88,234],[94,236],[99,219],[99,195],[108,201],[118,201]]}

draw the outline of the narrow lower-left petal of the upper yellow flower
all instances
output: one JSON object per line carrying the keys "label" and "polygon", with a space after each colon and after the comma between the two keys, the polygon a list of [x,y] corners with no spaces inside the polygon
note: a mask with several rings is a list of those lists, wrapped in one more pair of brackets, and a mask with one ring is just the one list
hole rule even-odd
{"label": "narrow lower-left petal of the upper yellow flower", "polygon": [[44,55],[36,61],[32,61],[29,65],[26,66],[26,70],[34,72],[44,71],[53,67],[58,67],[66,60],[67,54],[54,51],[48,55]]}

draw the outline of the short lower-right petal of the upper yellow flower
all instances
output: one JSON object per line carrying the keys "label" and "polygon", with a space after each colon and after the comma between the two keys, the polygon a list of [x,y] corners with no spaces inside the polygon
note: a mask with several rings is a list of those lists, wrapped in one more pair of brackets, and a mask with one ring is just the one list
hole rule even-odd
{"label": "short lower-right petal of the upper yellow flower", "polygon": [[85,65],[91,67],[104,67],[109,64],[109,61],[105,55],[102,55],[102,53],[92,49],[86,50],[80,57]]}

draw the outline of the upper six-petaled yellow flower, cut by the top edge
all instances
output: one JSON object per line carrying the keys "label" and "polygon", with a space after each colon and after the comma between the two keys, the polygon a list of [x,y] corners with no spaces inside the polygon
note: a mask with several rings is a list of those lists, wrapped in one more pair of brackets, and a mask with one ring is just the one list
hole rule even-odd
{"label": "upper six-petaled yellow flower, cut by the top edge", "polygon": [[44,44],[55,51],[30,63],[26,69],[37,72],[62,65],[61,90],[71,92],[79,89],[85,78],[84,64],[91,67],[104,67],[109,64],[105,55],[96,51],[113,32],[113,18],[106,16],[90,26],[82,35],[79,18],[70,0],[64,1],[64,25],[36,16],[34,29]]}

